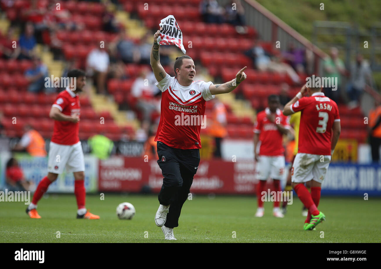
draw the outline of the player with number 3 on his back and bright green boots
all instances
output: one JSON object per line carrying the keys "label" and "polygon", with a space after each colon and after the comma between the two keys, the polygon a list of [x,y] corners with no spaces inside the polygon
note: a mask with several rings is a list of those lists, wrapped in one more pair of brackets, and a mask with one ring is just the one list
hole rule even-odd
{"label": "player with number 3 on his back and bright green boots", "polygon": [[[303,97],[305,95],[309,97]],[[292,166],[291,181],[309,211],[304,230],[312,230],[325,220],[325,215],[317,206],[322,182],[340,136],[340,116],[337,104],[325,97],[322,88],[307,88],[306,85],[285,105],[283,114],[288,116],[297,111],[301,111],[299,149]],[[304,186],[309,181],[311,193]]]}

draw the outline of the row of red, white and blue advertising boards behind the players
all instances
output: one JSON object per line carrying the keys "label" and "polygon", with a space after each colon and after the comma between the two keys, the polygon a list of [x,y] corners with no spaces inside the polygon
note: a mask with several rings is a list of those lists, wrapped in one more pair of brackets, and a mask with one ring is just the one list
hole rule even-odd
{"label": "row of red, white and blue advertising boards behind the players", "polygon": [[[9,152],[0,154],[0,189],[5,188],[5,165]],[[27,179],[35,185],[46,176],[47,158],[16,155]],[[147,192],[158,193],[163,176],[156,160],[143,157],[113,156],[98,160],[85,155],[85,187],[88,193]],[[286,169],[287,171],[287,169]],[[287,174],[284,175],[286,178]],[[270,182],[269,182],[270,183]],[[194,177],[191,192],[195,194],[255,194],[254,161],[201,161]],[[269,184],[269,188],[271,189]],[[284,185],[284,181],[283,181]],[[72,174],[62,174],[50,185],[48,192],[72,193]],[[381,196],[381,166],[331,163],[322,185],[322,195]]]}

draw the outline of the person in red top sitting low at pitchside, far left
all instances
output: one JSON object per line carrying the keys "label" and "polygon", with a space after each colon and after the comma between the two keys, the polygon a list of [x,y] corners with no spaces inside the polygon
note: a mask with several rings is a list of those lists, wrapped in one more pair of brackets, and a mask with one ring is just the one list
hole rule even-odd
{"label": "person in red top sitting low at pitchside, far left", "polygon": [[25,179],[18,161],[13,157],[6,163],[5,182],[8,191],[29,191],[33,186]]}

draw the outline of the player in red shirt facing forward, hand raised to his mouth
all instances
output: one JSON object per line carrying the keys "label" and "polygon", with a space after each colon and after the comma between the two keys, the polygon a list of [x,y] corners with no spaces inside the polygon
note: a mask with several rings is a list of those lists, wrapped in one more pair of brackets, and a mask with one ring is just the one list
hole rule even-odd
{"label": "player in red shirt facing forward, hand raised to his mouth", "polygon": [[[280,100],[278,95],[268,97],[269,107],[257,115],[254,126],[254,156],[256,161],[256,174],[258,179],[257,201],[258,209],[256,217],[263,217],[263,191],[265,191],[266,180],[270,176],[273,182],[273,191],[280,193],[280,180],[285,170],[284,147],[282,144],[283,134],[288,134],[290,124],[286,116],[279,109]],[[261,142],[259,155],[257,154],[258,142]],[[266,192],[267,193],[267,192]],[[266,194],[267,195],[267,194]],[[280,212],[279,200],[275,198],[273,215],[283,218]]]}

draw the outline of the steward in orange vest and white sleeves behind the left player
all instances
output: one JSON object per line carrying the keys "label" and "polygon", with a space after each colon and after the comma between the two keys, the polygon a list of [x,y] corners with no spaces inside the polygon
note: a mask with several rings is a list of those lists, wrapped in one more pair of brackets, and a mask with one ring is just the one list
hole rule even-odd
{"label": "steward in orange vest and white sleeves behind the left player", "polygon": [[20,142],[14,146],[13,150],[26,150],[33,157],[46,157],[45,140],[41,134],[29,124],[24,126],[24,131]]}

